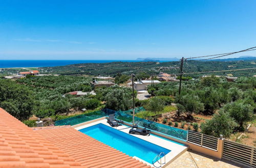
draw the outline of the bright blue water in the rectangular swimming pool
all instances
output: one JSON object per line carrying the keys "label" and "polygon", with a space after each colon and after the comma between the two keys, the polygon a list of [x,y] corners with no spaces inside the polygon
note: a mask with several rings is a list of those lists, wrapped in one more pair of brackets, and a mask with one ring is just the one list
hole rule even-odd
{"label": "bright blue water in the rectangular swimming pool", "polygon": [[143,139],[129,135],[115,128],[105,126],[104,124],[97,124],[80,129],[79,131],[129,156],[136,156],[148,163],[152,163],[156,155],[159,155],[161,152],[164,152],[165,155],[170,152],[168,149],[144,141]]}

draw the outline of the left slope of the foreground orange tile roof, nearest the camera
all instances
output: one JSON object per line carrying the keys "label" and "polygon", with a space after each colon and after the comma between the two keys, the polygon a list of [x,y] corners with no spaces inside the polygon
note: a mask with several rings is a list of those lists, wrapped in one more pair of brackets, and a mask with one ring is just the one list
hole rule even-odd
{"label": "left slope of the foreground orange tile roof, nearest the camera", "polygon": [[83,167],[0,108],[0,167]]}

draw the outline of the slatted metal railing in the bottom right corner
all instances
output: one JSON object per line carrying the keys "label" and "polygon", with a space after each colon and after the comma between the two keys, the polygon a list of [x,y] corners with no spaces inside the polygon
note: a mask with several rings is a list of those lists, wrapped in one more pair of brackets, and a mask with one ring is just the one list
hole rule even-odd
{"label": "slatted metal railing in the bottom right corner", "polygon": [[225,139],[222,158],[256,167],[256,148]]}

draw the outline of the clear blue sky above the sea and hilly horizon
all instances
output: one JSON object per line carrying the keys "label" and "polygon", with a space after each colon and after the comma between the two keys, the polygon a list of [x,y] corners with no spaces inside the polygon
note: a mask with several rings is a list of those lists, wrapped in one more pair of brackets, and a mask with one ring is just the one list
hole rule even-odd
{"label": "clear blue sky above the sea and hilly horizon", "polygon": [[[256,46],[256,1],[0,1],[0,59],[195,57]],[[254,55],[249,51],[233,55]]]}

